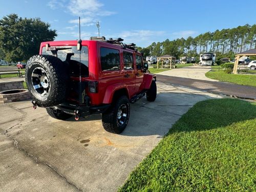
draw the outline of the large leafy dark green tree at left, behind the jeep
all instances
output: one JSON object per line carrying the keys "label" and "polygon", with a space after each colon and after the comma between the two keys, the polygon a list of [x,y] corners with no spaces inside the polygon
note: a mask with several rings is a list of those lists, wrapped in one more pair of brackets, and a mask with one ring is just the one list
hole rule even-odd
{"label": "large leafy dark green tree at left, behind the jeep", "polygon": [[42,41],[51,41],[56,30],[40,18],[22,18],[10,14],[0,19],[0,49],[7,61],[25,61],[38,54]]}

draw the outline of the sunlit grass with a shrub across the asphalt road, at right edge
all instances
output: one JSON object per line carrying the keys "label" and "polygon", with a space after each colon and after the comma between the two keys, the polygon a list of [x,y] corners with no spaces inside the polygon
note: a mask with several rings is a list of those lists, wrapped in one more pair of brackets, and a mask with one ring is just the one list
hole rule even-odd
{"label": "sunlit grass with a shrub across the asphalt road, at right edge", "polygon": [[243,86],[256,86],[256,75],[227,74],[219,66],[211,66],[211,69],[212,71],[205,74],[205,76],[208,78],[242,84]]}

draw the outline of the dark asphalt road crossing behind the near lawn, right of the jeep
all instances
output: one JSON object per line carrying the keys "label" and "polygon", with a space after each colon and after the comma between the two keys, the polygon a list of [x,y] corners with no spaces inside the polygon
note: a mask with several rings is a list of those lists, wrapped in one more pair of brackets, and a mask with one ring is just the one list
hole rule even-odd
{"label": "dark asphalt road crossing behind the near lawn, right of the jeep", "polygon": [[229,82],[208,81],[166,75],[157,75],[157,80],[187,88],[199,89],[201,91],[207,91],[210,93],[256,100],[256,87],[241,86],[239,84]]}

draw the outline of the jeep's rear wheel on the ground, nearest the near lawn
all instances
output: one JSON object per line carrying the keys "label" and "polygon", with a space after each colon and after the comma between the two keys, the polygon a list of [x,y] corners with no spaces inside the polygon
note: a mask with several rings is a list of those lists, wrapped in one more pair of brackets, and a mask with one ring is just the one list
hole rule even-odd
{"label": "jeep's rear wheel on the ground, nearest the near lawn", "polygon": [[107,132],[119,134],[125,129],[129,117],[130,101],[126,96],[121,96],[107,112],[102,114],[102,125]]}

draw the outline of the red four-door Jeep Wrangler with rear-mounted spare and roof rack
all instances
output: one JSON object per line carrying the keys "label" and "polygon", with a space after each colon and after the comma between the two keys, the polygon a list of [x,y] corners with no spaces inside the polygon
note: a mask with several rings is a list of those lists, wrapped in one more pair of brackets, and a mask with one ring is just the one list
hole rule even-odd
{"label": "red four-door Jeep Wrangler with rear-mounted spare and roof rack", "polygon": [[135,44],[123,39],[42,42],[39,55],[26,67],[26,82],[36,105],[65,120],[72,115],[102,114],[106,131],[121,133],[129,120],[130,103],[157,95],[156,76],[148,73]]}

